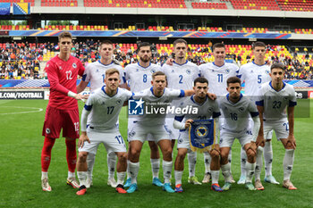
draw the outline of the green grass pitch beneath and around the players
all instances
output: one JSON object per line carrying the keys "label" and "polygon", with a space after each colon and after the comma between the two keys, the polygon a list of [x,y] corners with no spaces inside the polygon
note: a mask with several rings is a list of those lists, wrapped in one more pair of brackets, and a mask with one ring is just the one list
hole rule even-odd
{"label": "green grass pitch beneath and around the players", "polygon": [[[263,183],[264,191],[251,192],[234,184],[228,192],[216,193],[208,185],[187,183],[188,163],[185,161],[182,194],[168,194],[151,185],[149,150],[146,143],[140,156],[139,190],[130,195],[119,195],[106,185],[106,151],[100,146],[94,169],[94,186],[85,196],[66,186],[67,163],[64,139],[55,142],[49,168],[52,192],[41,190],[40,154],[44,137],[41,136],[47,101],[0,101],[0,207],[313,207],[313,140],[312,109],[309,100],[299,100],[296,108],[295,137],[297,149],[292,171],[292,182],[298,190],[290,191],[282,185]],[[80,110],[83,104],[80,103]],[[40,111],[40,109],[43,109]],[[301,118],[299,118],[301,117]],[[305,118],[303,118],[305,117]],[[124,139],[127,132],[126,108],[121,112],[120,129]],[[283,181],[283,146],[273,139],[275,178]],[[177,150],[174,149],[174,157]],[[203,155],[198,154],[196,175],[204,175]],[[232,171],[240,176],[240,145],[233,146]],[[262,179],[264,171],[262,172]],[[160,170],[162,178],[162,170]],[[220,176],[220,185],[224,179]]]}

